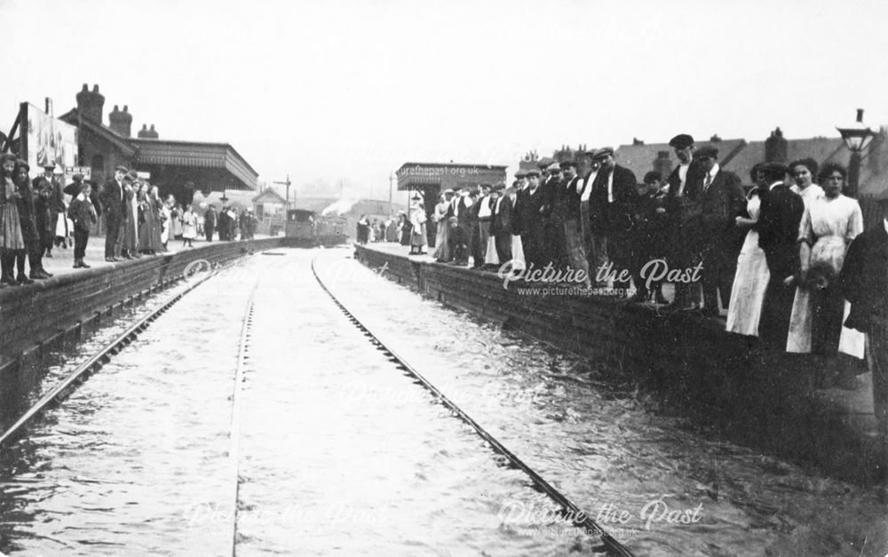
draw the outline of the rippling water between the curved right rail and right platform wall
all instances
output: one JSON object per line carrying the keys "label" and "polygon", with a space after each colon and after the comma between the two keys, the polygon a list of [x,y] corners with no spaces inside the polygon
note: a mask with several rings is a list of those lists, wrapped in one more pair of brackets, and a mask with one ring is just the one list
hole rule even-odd
{"label": "rippling water between the curved right rail and right platform wall", "polygon": [[[353,260],[326,259],[321,275],[345,306],[638,554],[888,552],[874,491],[694,433],[598,384],[570,354],[404,297]],[[690,524],[662,516],[698,506]]]}

